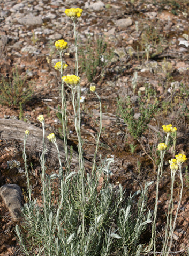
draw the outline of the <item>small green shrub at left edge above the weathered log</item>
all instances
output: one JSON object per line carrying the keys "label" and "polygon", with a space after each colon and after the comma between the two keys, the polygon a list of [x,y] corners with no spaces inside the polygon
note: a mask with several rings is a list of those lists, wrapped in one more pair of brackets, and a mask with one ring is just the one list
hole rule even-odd
{"label": "small green shrub at left edge above the weathered log", "polygon": [[33,94],[32,84],[27,81],[27,76],[21,77],[18,69],[13,69],[13,77],[6,81],[2,76],[0,81],[0,104],[7,106],[20,107]]}

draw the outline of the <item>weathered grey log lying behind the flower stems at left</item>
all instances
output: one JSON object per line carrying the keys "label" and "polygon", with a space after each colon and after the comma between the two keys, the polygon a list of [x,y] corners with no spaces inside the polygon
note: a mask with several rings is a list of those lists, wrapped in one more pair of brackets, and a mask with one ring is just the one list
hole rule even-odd
{"label": "weathered grey log lying behind the flower stems at left", "polygon": [[[41,153],[43,149],[43,131],[41,128],[36,127],[35,125],[25,123],[20,120],[12,120],[12,119],[0,119],[0,136],[1,139],[6,140],[17,140],[19,144],[23,145],[24,143],[24,136],[25,131],[29,130],[29,137],[26,141],[26,148],[29,150],[34,150],[37,153]],[[46,134],[52,133],[51,131],[46,130]],[[61,154],[61,159],[65,160],[65,152],[63,144],[64,142],[56,136],[57,144],[59,147],[59,151]],[[45,138],[45,143],[47,147],[47,158],[55,158],[58,159],[58,153],[56,150],[56,147],[54,144],[50,143],[47,139],[47,136]],[[69,147],[69,154],[70,154],[70,146]],[[72,161],[71,163],[73,165],[78,163],[78,154],[76,151],[73,150],[72,153]],[[91,166],[91,162],[88,160],[85,160],[86,166]]]}

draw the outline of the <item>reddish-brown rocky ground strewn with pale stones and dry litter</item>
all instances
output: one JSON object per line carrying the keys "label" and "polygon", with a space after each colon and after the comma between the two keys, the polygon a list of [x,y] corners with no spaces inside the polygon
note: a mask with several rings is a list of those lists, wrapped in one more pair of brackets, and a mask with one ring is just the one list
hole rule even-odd
{"label": "reddish-brown rocky ground strewn with pale stones and dry litter", "polygon": [[[20,119],[28,125],[40,127],[37,116],[43,114],[47,129],[54,131],[57,137],[61,137],[61,123],[57,116],[58,106],[61,105],[60,81],[59,74],[54,69],[59,59],[54,42],[58,39],[69,42],[64,57],[69,65],[66,74],[73,73],[73,25],[64,11],[72,7],[84,9],[79,20],[78,33],[79,75],[84,97],[81,108],[85,157],[89,161],[92,160],[95,138],[99,131],[99,103],[95,95],[89,91],[93,82],[101,97],[103,110],[103,131],[98,156],[100,154],[102,157],[115,156],[112,168],[114,175],[111,181],[114,184],[121,183],[128,194],[143,186],[146,181],[154,181],[150,189],[148,205],[153,210],[156,173],[153,172],[152,161],[139,142],[134,140],[127,124],[120,118],[116,99],[124,100],[126,96],[130,96],[137,104],[140,93],[141,100],[145,99],[143,108],[148,108],[149,104],[158,101],[160,110],[150,122],[149,129],[142,135],[145,150],[149,154],[151,150],[152,155],[155,155],[157,144],[160,140],[163,141],[161,126],[172,124],[178,129],[176,152],[189,156],[188,1],[1,0],[0,5],[0,68],[3,77],[0,80],[0,88],[4,97],[0,98],[0,118],[11,119],[12,122]],[[98,42],[104,47],[101,48],[101,53],[97,51]],[[93,70],[94,65],[89,61],[93,52],[94,58],[98,56],[100,62],[91,75],[86,66]],[[9,81],[12,83],[13,70],[18,73],[19,79],[24,80],[21,91],[23,89],[26,91],[28,87],[32,87],[33,90],[32,98],[22,104],[19,104],[23,99],[20,92],[14,101],[14,90],[11,88],[8,94],[8,89],[5,89],[5,84],[9,84]],[[77,137],[69,90],[67,90],[67,104],[70,111],[69,143],[76,150]],[[134,109],[135,115],[139,115],[138,105]],[[26,177],[18,140],[4,140],[2,137],[0,145],[0,186],[9,183],[18,184],[25,193]],[[164,174],[160,184],[157,223],[159,250],[161,250],[161,234],[164,232],[165,211],[170,195],[168,159],[172,157],[173,152],[170,148],[165,157]],[[34,148],[29,152],[28,158],[33,174],[33,191],[37,196],[40,192],[40,165]],[[55,162],[48,162],[48,168],[55,169]],[[189,238],[189,174],[186,168],[183,168],[183,176],[184,195],[174,237],[175,252],[186,248]],[[178,177],[176,179],[175,208],[180,190]],[[15,225],[16,222],[12,220],[3,202],[0,201],[1,256],[24,255],[20,252],[14,237]],[[144,240],[148,241],[148,237]],[[182,251],[175,255],[187,255],[187,253]]]}

